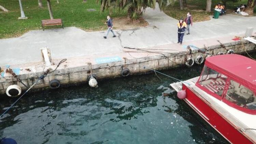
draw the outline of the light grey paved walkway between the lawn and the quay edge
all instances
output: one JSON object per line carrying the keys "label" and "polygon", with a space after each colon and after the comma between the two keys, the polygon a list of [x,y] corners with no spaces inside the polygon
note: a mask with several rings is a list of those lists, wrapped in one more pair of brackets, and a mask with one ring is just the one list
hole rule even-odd
{"label": "light grey paved walkway between the lawn and the quay edge", "polygon": [[[143,15],[149,26],[130,30],[115,30],[103,39],[105,31],[85,32],[75,27],[30,31],[17,38],[0,39],[0,65],[13,65],[42,61],[40,48],[49,47],[53,59],[86,55],[105,55],[123,52],[128,47],[154,47],[177,42],[177,20],[159,9],[148,8]],[[256,17],[235,15],[220,16],[219,19],[197,22],[184,42],[243,34],[247,27],[256,30]],[[221,40],[221,39],[220,39]]]}

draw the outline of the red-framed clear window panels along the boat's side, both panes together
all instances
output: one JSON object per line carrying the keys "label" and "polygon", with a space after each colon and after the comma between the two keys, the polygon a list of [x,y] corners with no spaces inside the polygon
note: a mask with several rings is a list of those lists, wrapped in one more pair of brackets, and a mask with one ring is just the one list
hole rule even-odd
{"label": "red-framed clear window panels along the boat's side, both panes together", "polygon": [[229,106],[255,114],[255,111],[252,111],[256,110],[255,92],[206,65],[196,85]]}

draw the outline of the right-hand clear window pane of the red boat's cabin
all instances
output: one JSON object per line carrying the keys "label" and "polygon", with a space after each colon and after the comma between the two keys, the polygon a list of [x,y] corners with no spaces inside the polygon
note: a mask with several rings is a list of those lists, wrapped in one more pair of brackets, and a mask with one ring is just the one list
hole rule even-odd
{"label": "right-hand clear window pane of the red boat's cabin", "polygon": [[240,107],[256,110],[256,98],[253,91],[231,79],[230,86],[232,89],[227,91],[225,95],[226,100]]}

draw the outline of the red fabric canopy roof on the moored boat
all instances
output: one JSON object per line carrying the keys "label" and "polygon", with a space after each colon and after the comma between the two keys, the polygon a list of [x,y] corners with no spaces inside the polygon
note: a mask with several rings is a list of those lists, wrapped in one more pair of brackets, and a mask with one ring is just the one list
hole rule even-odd
{"label": "red fabric canopy roof on the moored boat", "polygon": [[238,54],[209,57],[205,65],[256,93],[256,61]]}

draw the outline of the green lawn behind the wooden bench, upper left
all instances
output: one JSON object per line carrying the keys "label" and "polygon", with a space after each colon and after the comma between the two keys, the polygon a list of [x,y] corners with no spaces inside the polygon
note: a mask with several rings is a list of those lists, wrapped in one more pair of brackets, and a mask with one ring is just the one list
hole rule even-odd
{"label": "green lawn behind the wooden bench, upper left", "polygon": [[[37,0],[22,0],[23,10],[28,19],[18,20],[20,9],[18,0],[0,0],[0,5],[10,12],[0,12],[0,38],[19,36],[29,30],[41,29],[41,20],[50,19],[46,0],[43,8]],[[53,16],[62,18],[64,27],[75,26],[84,30],[104,30],[109,11],[101,13],[100,5],[95,0],[51,0]],[[89,12],[87,9],[96,9]],[[0,10],[1,11],[1,10]],[[125,13],[113,12],[112,17],[123,17]]]}

